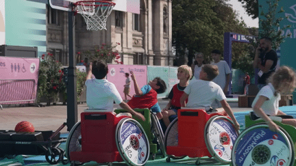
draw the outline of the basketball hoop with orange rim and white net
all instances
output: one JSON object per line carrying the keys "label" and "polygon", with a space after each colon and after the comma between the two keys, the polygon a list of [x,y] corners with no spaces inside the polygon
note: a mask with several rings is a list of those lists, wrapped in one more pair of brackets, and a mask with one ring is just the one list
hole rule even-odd
{"label": "basketball hoop with orange rim and white net", "polygon": [[97,31],[106,29],[107,18],[115,3],[110,1],[77,1],[74,5],[76,11],[84,17],[86,29]]}

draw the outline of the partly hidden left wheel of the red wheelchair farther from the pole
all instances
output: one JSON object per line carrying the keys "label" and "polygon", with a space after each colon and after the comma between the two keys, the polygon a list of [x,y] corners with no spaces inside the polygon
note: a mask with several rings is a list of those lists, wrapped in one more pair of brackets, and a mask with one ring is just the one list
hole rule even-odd
{"label": "partly hidden left wheel of the red wheelchair farther from the pole", "polygon": [[[164,135],[164,147],[167,150],[167,146],[178,146],[178,118],[176,117],[175,120],[169,124],[167,127],[167,131]],[[170,162],[170,158],[173,159],[182,159],[186,156],[174,156],[169,155],[167,158],[167,162]]]}

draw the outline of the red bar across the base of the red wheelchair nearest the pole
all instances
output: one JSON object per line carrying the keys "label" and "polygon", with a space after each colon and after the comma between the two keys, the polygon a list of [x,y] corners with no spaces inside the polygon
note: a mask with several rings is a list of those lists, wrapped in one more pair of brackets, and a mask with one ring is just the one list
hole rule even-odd
{"label": "red bar across the base of the red wheelchair nearest the pole", "polygon": [[71,152],[70,158],[71,161],[79,161],[81,163],[87,163],[89,161],[95,161],[97,163],[123,161],[119,152]]}

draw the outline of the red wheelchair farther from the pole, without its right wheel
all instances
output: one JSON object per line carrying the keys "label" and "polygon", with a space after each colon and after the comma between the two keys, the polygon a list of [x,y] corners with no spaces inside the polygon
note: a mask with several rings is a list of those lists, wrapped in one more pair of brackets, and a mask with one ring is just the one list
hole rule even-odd
{"label": "red wheelchair farther from the pole, without its right wheel", "polygon": [[[205,129],[208,120],[217,115],[227,117],[224,110],[208,114],[203,109],[179,109],[178,117],[171,122],[164,136],[168,154],[167,162],[170,162],[170,158],[189,156],[190,158],[199,157],[196,162],[196,165],[199,165],[200,157],[215,156],[214,153],[209,152],[209,147],[206,145]],[[230,120],[230,117],[227,117],[227,119]],[[170,130],[176,129],[177,138],[175,139],[177,140],[170,143]]]}

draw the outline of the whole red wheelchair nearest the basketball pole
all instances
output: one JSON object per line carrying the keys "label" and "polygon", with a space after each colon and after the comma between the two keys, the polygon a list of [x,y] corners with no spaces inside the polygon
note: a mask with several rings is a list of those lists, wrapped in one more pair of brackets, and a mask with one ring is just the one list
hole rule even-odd
{"label": "whole red wheelchair nearest the basketball pole", "polygon": [[149,152],[142,126],[130,117],[112,112],[81,113],[81,121],[73,126],[66,141],[66,157],[72,166],[89,161],[145,165]]}

